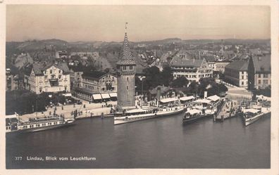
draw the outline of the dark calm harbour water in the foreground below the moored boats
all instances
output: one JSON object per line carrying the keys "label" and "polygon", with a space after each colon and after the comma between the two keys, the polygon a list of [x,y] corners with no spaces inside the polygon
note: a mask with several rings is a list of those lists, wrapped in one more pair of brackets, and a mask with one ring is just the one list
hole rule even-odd
{"label": "dark calm harbour water in the foreground below the moored boats", "polygon": [[[6,168],[268,169],[270,133],[270,117],[248,127],[240,117],[183,125],[182,115],[176,115],[116,126],[113,118],[81,119],[73,127],[6,136]],[[42,162],[27,161],[27,156],[96,160]]]}

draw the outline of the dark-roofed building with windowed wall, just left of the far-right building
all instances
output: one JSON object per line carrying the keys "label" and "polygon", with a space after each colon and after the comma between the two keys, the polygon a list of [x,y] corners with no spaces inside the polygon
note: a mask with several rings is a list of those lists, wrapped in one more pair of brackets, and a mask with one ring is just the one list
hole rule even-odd
{"label": "dark-roofed building with windowed wall, just left of the far-right building", "polygon": [[248,88],[248,61],[235,60],[225,66],[225,82]]}

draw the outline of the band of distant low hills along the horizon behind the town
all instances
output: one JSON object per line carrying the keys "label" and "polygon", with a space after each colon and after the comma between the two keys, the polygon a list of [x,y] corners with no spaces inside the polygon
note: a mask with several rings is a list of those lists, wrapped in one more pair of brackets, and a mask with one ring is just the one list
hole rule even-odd
{"label": "band of distant low hills along the horizon behind the town", "polygon": [[[216,43],[221,44],[221,39],[179,39],[179,38],[168,38],[154,41],[130,41],[130,44],[151,44],[151,45],[160,45],[160,44],[206,44],[206,43]],[[256,43],[269,43],[271,39],[223,39],[224,44],[256,44]],[[67,50],[69,51],[92,51],[94,47],[101,48],[113,48],[122,45],[122,41],[116,42],[106,42],[106,41],[76,41],[76,42],[67,42],[61,39],[44,39],[44,40],[30,40],[30,41],[21,41],[21,42],[6,42],[6,51],[7,53],[20,53],[28,51],[59,51]]]}

